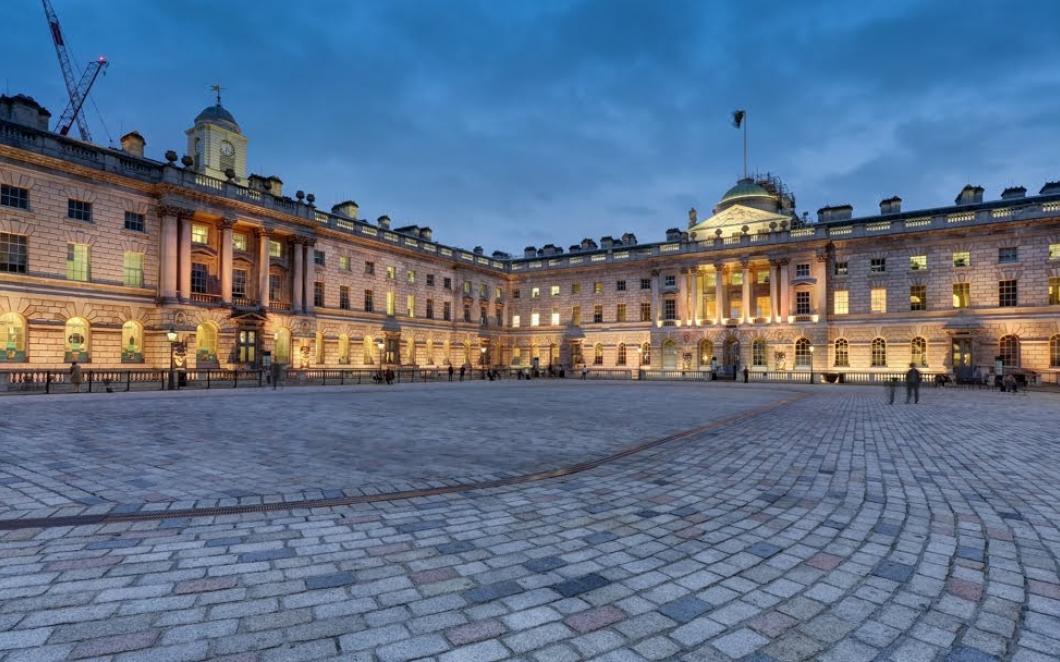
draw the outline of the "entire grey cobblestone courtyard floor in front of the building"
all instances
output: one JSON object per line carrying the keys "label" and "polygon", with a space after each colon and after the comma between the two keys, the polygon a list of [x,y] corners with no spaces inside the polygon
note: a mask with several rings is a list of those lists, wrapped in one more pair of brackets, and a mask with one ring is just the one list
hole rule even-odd
{"label": "entire grey cobblestone courtyard floor in front of the building", "polygon": [[[0,658],[1060,659],[1060,399],[882,396],[540,381],[7,398]],[[512,484],[478,485],[496,478]],[[459,490],[164,512],[440,485]]]}

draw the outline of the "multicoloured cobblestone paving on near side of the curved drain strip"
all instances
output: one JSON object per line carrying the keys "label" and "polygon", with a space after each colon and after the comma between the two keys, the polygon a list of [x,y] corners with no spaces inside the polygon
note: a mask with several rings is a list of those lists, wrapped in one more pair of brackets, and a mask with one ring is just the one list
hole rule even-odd
{"label": "multicoloured cobblestone paving on near side of the curved drain strip", "polygon": [[2,532],[0,656],[1057,660],[1060,400],[811,393],[552,481]]}

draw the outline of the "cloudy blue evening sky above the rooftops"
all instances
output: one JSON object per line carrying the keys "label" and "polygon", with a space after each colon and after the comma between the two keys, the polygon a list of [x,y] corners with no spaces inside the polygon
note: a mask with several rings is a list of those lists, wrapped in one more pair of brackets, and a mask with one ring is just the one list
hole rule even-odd
{"label": "cloudy blue evening sky above the rooftops", "polygon": [[[182,154],[220,82],[251,172],[488,252],[708,214],[740,175],[736,108],[752,168],[811,216],[1060,179],[1057,1],[53,1],[77,58],[111,60],[114,140]],[[40,3],[4,5],[4,89],[57,117]]]}

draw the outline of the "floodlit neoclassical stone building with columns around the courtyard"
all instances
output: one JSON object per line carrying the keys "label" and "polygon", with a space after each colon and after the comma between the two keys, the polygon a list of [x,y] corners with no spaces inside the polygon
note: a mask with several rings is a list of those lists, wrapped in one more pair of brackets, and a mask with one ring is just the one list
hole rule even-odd
{"label": "floodlit neoclassical stone building with columns around the courtyard", "polygon": [[631,371],[1060,373],[1060,183],[952,205],[900,198],[811,221],[775,177],[741,180],[659,243],[632,234],[523,256],[319,210],[247,172],[219,104],[187,156],[48,130],[0,97],[0,370],[563,364]]}

